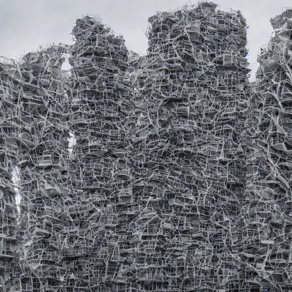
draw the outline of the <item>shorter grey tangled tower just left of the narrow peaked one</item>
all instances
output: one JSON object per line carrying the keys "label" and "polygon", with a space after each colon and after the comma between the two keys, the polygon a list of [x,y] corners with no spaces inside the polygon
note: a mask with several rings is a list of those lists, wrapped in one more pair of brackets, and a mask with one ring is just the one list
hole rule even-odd
{"label": "shorter grey tangled tower just left of the narrow peaked one", "polygon": [[[16,291],[57,291],[68,276],[61,230],[69,220],[68,99],[60,78],[63,45],[47,45],[21,59],[18,87],[18,161],[21,257]],[[67,157],[67,159],[66,159]]]}

